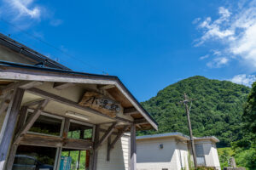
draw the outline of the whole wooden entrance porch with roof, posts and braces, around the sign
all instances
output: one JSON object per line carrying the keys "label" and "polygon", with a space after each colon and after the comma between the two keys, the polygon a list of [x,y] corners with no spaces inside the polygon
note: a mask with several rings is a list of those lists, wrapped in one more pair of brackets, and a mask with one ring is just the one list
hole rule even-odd
{"label": "whole wooden entrance porch with roof, posts and braces, around the sign", "polygon": [[[97,150],[108,140],[108,160],[110,150],[114,144],[125,133],[131,132],[131,170],[136,169],[136,130],[148,130],[158,128],[157,123],[147,111],[137,102],[132,94],[120,82],[118,77],[88,74],[76,71],[67,71],[36,65],[16,64],[7,61],[0,61],[0,114],[3,111],[11,113],[9,116],[10,127],[5,129],[9,136],[2,136],[0,144],[0,161],[6,160],[7,148],[12,140],[9,152],[9,161],[5,167],[12,166],[15,151],[19,144],[38,144],[51,147],[73,148],[92,150],[91,168],[96,170]],[[108,96],[118,102],[122,111],[116,116],[109,116],[102,111],[97,111],[91,107],[79,105],[86,92],[95,92]],[[11,105],[11,106],[10,106]],[[21,110],[20,110],[21,107]],[[33,116],[20,123],[22,109],[31,109]],[[47,137],[26,133],[33,122],[42,113],[49,113],[56,116],[65,117],[63,136]],[[79,113],[87,119],[79,120],[68,116],[67,112]],[[19,122],[15,126],[18,114]],[[13,117],[11,117],[13,116]],[[89,122],[96,126],[94,141],[82,141],[79,139],[67,139],[69,118],[82,122]],[[100,126],[107,126],[102,129]],[[16,132],[14,132],[16,127]],[[100,136],[99,132],[103,132]],[[2,134],[2,133],[1,133]],[[12,137],[12,135],[14,135]],[[109,138],[115,134],[113,141]],[[3,169],[3,162],[0,162],[0,170]],[[2,165],[1,165],[2,164]]]}

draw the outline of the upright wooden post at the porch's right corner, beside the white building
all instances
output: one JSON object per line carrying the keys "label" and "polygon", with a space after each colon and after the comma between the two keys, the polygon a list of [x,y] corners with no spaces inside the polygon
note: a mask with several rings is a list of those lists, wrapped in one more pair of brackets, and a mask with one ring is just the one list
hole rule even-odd
{"label": "upright wooden post at the porch's right corner, beside the white building", "polygon": [[131,124],[131,170],[137,170],[136,125]]}

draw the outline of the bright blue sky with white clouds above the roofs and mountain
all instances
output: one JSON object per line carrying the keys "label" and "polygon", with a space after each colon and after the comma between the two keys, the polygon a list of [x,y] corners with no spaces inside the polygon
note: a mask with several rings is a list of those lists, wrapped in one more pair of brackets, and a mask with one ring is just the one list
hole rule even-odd
{"label": "bright blue sky with white clouds above the roofs and mountain", "polygon": [[195,75],[256,80],[255,0],[0,2],[0,32],[74,71],[118,76],[139,101]]}

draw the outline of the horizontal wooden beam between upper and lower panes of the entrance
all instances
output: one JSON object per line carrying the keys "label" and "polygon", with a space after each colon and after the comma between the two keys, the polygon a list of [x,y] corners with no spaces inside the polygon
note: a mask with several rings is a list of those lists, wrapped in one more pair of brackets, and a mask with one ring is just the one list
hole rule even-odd
{"label": "horizontal wooden beam between upper and lower panes of the entrance", "polygon": [[93,142],[85,139],[63,139],[57,136],[26,133],[20,140],[20,144],[54,148],[62,147],[73,150],[91,150]]}

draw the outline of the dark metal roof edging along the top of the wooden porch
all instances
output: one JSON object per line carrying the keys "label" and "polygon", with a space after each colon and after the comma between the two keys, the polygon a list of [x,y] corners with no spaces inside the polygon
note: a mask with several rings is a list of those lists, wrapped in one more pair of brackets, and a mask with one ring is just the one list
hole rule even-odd
{"label": "dark metal roof edging along the top of the wooden porch", "polygon": [[108,75],[99,75],[99,74],[90,74],[90,73],[84,73],[84,72],[79,72],[79,71],[71,71],[71,70],[61,70],[61,69],[55,69],[55,68],[49,68],[49,67],[42,67],[38,65],[26,65],[26,64],[20,64],[20,63],[14,63],[14,62],[9,62],[9,61],[2,61],[0,60],[0,66],[7,66],[7,67],[15,67],[15,68],[20,68],[20,69],[28,69],[28,70],[37,70],[37,71],[48,71],[48,72],[53,72],[53,73],[62,73],[62,74],[72,74],[76,76],[85,76],[85,77],[91,77],[91,78],[102,78],[102,79],[108,79],[108,80],[115,80],[119,82],[119,84],[125,89],[125,92],[129,94],[131,99],[133,99],[136,104],[144,111],[144,113],[147,114],[147,116],[150,118],[152,122],[154,122],[157,126],[158,123],[155,122],[154,118],[150,116],[148,111],[146,111],[143,106],[137,101],[137,99],[131,94],[131,92],[125,87],[123,82],[119,80],[119,77],[115,76],[108,76]]}

